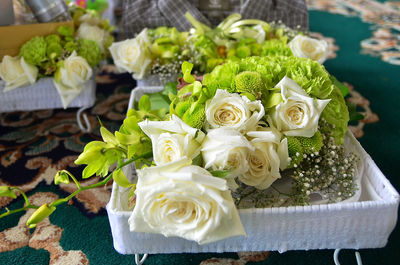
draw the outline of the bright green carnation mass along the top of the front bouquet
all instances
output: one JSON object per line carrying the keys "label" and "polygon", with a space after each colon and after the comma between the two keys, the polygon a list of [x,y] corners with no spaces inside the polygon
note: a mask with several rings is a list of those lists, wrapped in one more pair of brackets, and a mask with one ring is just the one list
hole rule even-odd
{"label": "bright green carnation mass along the top of the front bouquet", "polygon": [[[203,85],[211,93],[225,89],[230,93],[246,95],[252,100],[261,99],[268,113],[282,100],[275,85],[284,76],[293,79],[311,97],[331,100],[321,117],[334,125],[332,133],[336,143],[343,143],[349,112],[340,89],[318,62],[293,56],[249,57],[215,67],[204,76]],[[298,153],[302,154],[300,151]]]}

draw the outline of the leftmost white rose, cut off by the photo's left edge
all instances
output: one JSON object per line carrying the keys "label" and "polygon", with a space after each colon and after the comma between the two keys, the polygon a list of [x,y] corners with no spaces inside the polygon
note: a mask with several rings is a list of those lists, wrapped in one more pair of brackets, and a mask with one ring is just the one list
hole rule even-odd
{"label": "leftmost white rose, cut off by the photo's left edge", "polygon": [[0,78],[4,80],[4,92],[17,87],[33,85],[38,74],[37,67],[25,62],[24,58],[4,56],[0,63]]}

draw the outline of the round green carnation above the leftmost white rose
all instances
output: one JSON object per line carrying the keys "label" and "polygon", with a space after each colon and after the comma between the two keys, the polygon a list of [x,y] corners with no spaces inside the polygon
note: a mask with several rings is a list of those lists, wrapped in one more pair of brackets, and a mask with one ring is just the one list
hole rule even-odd
{"label": "round green carnation above the leftmost white rose", "polygon": [[19,56],[24,57],[25,61],[40,66],[40,64],[47,60],[46,56],[47,43],[41,36],[36,36],[22,45],[19,51]]}

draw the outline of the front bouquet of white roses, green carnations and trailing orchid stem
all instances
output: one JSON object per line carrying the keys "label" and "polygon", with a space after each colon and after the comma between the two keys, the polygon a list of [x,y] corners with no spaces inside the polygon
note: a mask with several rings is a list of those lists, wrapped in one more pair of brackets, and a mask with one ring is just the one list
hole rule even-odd
{"label": "front bouquet of white roses, green carnations and trailing orchid stem", "polygon": [[[0,218],[37,208],[27,221],[35,227],[80,191],[113,179],[129,190],[131,231],[206,244],[245,235],[239,208],[336,203],[355,194],[357,157],[343,145],[346,89],[320,63],[249,57],[202,78],[193,68],[182,64],[179,89],[170,83],[142,96],[115,133],[101,126],[103,141],[88,143],[75,161],[86,165],[84,179],[98,175],[101,182],[82,186],[61,170],[55,184],[72,180],[77,190],[42,206],[2,186],[0,196],[21,193],[26,204]],[[154,100],[160,97],[167,108]],[[130,182],[122,168],[132,163],[137,177]]]}

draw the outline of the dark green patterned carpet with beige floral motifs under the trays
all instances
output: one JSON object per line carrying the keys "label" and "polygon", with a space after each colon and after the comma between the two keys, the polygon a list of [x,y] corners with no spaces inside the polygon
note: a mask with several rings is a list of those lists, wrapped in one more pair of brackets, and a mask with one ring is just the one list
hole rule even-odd
{"label": "dark green patterned carpet with beige floral motifs under the trays", "polygon": [[[382,6],[371,0],[308,2],[313,10],[310,11],[311,30],[331,37],[330,42],[336,46],[332,59],[326,62],[328,71],[354,86],[349,100],[366,114],[364,120],[352,125],[352,130],[399,190],[400,181],[396,176],[400,171],[400,111],[394,107],[400,100],[400,68],[396,65],[398,3],[385,3],[383,7],[390,8],[385,13],[385,9],[377,8]],[[390,35],[376,33],[382,30],[389,31]],[[365,40],[376,36],[392,38],[384,44],[391,43],[391,48],[380,46],[382,49],[378,49],[376,42],[371,41],[375,46],[370,50],[375,52],[366,54]],[[96,80],[96,104],[85,111],[93,128],[91,133],[79,130],[76,109],[0,114],[0,185],[18,185],[37,204],[65,197],[74,190],[72,185],[52,184],[55,172],[66,168],[75,176],[80,175],[82,167],[74,166],[73,161],[87,142],[100,139],[97,117],[111,131],[119,128],[130,90],[135,86],[129,75],[116,75],[112,67],[105,68]],[[35,230],[24,225],[29,212],[2,219],[0,264],[135,264],[133,256],[120,255],[113,249],[104,209],[109,196],[110,186],[83,192],[69,204],[58,207]],[[22,203],[21,199],[12,202],[0,199],[0,207],[10,209],[19,208]],[[361,250],[363,264],[393,264],[399,260],[398,230],[393,232],[385,248]],[[145,264],[333,264],[332,255],[332,250],[150,255]],[[340,260],[342,264],[355,264],[354,251],[344,250]]]}

